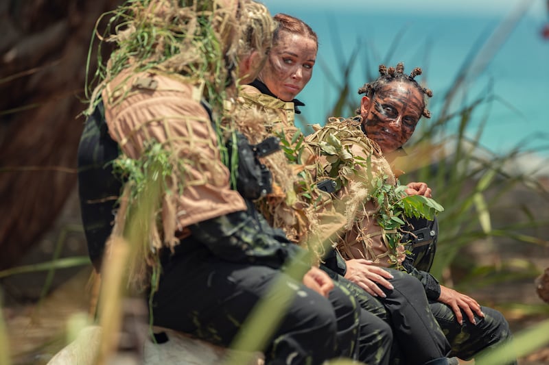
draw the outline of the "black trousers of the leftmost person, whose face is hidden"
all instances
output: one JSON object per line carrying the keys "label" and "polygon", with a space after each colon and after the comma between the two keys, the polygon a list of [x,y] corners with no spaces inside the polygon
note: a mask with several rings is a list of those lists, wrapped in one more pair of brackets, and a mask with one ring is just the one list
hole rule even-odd
{"label": "black trousers of the leftmost person, whose face is hidden", "polygon": [[[276,279],[283,285],[273,291]],[[261,298],[271,313],[281,309],[284,314],[266,347],[240,349],[263,351],[266,364],[322,364],[360,353],[368,353],[368,364],[388,364],[388,356],[369,360],[378,356],[377,349],[390,351],[390,328],[360,310],[344,290],[334,288],[327,299],[279,270],[226,262],[206,251],[176,255],[163,266],[153,300],[154,325],[229,347]],[[371,351],[358,338],[369,340]]]}

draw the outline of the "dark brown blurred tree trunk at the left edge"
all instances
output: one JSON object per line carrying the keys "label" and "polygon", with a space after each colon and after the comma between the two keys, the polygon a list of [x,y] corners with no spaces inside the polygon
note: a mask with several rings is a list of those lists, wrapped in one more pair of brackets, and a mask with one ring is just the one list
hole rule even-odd
{"label": "dark brown blurred tree trunk at the left edge", "polygon": [[38,241],[75,187],[90,40],[119,3],[0,3],[0,270]]}

